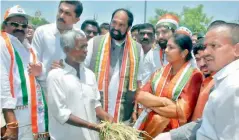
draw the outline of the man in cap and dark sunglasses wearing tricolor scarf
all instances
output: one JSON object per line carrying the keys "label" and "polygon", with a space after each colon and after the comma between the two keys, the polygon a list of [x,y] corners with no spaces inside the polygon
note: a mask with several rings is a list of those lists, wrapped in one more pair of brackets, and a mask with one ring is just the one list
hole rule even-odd
{"label": "man in cap and dark sunglasses wearing tricolor scarf", "polygon": [[47,106],[36,78],[42,64],[26,39],[28,15],[20,6],[9,8],[1,42],[1,108],[6,120],[3,139],[47,137]]}

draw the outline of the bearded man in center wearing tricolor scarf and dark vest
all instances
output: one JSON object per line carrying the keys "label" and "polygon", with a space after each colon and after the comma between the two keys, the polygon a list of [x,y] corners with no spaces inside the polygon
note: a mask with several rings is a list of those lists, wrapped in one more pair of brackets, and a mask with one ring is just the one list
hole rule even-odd
{"label": "bearded man in center wearing tricolor scarf and dark vest", "polygon": [[[141,80],[140,71],[143,67],[144,53],[141,45],[133,41],[129,34],[133,22],[129,20],[129,17],[133,17],[132,13],[126,9],[117,9],[112,17],[111,31],[104,36],[96,36],[88,41],[85,64],[96,74],[104,110],[112,115],[116,122],[121,121],[129,124],[134,110],[137,81]],[[119,24],[122,24],[122,27],[118,28]],[[109,51],[102,52],[103,49],[100,48],[109,48]],[[127,49],[132,49],[134,53],[130,55],[130,51]],[[104,54],[108,52],[109,54]],[[124,55],[124,52],[129,55]],[[103,59],[103,56],[109,59]],[[102,58],[102,60],[98,60],[98,58]],[[126,60],[134,61],[134,63],[126,64]],[[106,68],[109,68],[106,74],[102,74],[105,70],[102,68],[104,63]],[[131,71],[128,71],[130,68]],[[100,79],[103,82],[100,82]],[[106,87],[103,88],[101,85]]]}

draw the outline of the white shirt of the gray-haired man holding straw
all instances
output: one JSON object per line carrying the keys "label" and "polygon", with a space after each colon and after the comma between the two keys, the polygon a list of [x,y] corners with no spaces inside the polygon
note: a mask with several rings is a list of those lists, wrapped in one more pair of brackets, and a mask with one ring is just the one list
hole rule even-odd
{"label": "white shirt of the gray-haired man holding straw", "polygon": [[51,139],[97,140],[96,131],[66,123],[70,114],[91,123],[97,122],[95,108],[101,104],[95,75],[81,66],[79,79],[73,67],[66,63],[64,66],[64,69],[51,70],[47,77]]}

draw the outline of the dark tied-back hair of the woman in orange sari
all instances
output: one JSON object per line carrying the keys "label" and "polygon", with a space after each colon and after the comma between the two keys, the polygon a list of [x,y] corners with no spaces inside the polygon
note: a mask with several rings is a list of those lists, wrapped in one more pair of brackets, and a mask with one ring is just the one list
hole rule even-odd
{"label": "dark tied-back hair of the woman in orange sari", "polygon": [[184,51],[188,50],[188,54],[185,58],[186,61],[192,59],[192,40],[189,36],[184,34],[174,34],[173,35],[174,43],[179,46],[179,48]]}

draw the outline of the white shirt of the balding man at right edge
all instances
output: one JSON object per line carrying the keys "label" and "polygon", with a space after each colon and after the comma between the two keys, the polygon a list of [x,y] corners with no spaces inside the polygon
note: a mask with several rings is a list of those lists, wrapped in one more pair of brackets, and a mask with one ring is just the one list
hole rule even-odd
{"label": "white shirt of the balding man at right edge", "polygon": [[215,88],[204,108],[198,140],[239,140],[239,60],[214,76]]}

